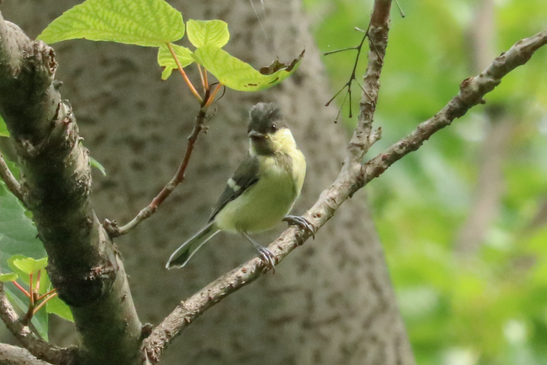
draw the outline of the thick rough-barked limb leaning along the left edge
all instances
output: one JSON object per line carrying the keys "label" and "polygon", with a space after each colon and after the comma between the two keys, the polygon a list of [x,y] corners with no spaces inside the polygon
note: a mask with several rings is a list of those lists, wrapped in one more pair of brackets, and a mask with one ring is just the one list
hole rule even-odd
{"label": "thick rough-barked limb leaning along the left edge", "polygon": [[91,208],[88,150],[54,83],[52,48],[0,15],[0,114],[13,138],[21,191],[49,256],[48,273],[72,310],[79,361],[136,361],[141,323],[124,266]]}

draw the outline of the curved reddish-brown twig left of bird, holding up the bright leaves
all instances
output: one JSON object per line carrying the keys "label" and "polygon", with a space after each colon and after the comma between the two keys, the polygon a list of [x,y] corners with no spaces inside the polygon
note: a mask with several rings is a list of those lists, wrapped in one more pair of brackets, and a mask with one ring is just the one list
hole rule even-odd
{"label": "curved reddish-brown twig left of bird, holding up the bright leaves", "polygon": [[203,130],[203,125],[205,124],[205,118],[207,114],[207,107],[203,106],[200,111],[197,113],[194,123],[194,129],[192,130],[190,136],[188,136],[188,144],[186,147],[186,152],[184,153],[184,158],[182,160],[181,165],[178,167],[176,175],[171,179],[170,182],[168,182],[165,187],[161,190],[161,192],[156,195],[156,197],[148,204],[147,207],[143,208],[138,215],[132,219],[131,222],[127,223],[123,227],[118,227],[115,222],[109,221],[108,219],[104,220],[103,227],[107,230],[108,234],[111,237],[120,236],[123,234],[126,234],[133,228],[137,227],[139,223],[144,221],[144,219],[152,216],[154,212],[158,209],[158,206],[165,200],[171,193],[173,192],[174,188],[177,187],[179,183],[181,183],[184,180],[184,172],[186,171],[186,168],[188,167],[188,163],[190,161],[190,157],[192,155],[192,151],[194,150],[194,146],[197,140],[197,137],[199,137],[200,132]]}

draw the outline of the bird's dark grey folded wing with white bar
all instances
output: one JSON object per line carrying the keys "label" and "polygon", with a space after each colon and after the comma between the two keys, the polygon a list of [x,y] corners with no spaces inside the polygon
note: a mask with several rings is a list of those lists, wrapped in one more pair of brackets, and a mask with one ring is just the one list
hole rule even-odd
{"label": "bird's dark grey folded wing with white bar", "polygon": [[217,205],[213,210],[209,222],[211,222],[214,217],[224,208],[226,204],[230,201],[236,199],[240,196],[245,190],[258,181],[258,171],[259,171],[259,161],[256,156],[247,155],[247,158],[241,161],[241,164],[237,167],[234,176],[228,179],[226,188],[220,198],[218,199]]}

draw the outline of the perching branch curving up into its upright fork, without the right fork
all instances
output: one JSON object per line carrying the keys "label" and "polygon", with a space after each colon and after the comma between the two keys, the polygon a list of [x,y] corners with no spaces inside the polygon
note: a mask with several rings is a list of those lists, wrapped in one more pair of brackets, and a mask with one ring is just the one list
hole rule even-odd
{"label": "perching branch curving up into its upright fork, without the right fork", "polygon": [[[348,154],[342,171],[334,184],[321,193],[316,204],[304,215],[313,224],[315,230],[322,227],[334,215],[342,202],[357,190],[353,187],[359,181],[362,168],[361,160],[370,146],[380,138],[380,130],[371,132],[371,124],[380,88],[379,79],[383,56],[386,54],[390,8],[391,0],[375,1],[369,27],[369,62],[364,78],[365,85],[358,125],[348,146]],[[311,235],[312,233],[309,231],[289,227],[269,246],[269,249],[275,253],[277,262],[280,262],[290,251],[303,244]],[[153,363],[158,362],[162,351],[165,350],[170,341],[190,325],[195,318],[228,296],[228,294],[258,279],[267,270],[269,268],[264,266],[261,259],[251,259],[181,302],[143,341],[144,359]]]}

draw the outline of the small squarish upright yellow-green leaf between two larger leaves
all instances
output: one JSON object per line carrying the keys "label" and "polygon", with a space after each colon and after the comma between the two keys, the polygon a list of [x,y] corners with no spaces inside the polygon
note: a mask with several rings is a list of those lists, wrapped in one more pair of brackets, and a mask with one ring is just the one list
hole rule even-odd
{"label": "small squarish upright yellow-green leaf between two larger leaves", "polygon": [[190,43],[196,48],[214,45],[222,48],[228,43],[230,33],[228,24],[222,20],[193,20],[186,22],[186,32]]}

